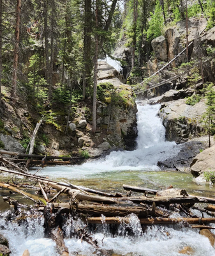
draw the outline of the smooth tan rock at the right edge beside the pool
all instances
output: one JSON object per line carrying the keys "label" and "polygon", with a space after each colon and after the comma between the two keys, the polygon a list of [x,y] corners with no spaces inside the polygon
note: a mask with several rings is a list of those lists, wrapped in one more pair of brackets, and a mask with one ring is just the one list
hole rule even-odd
{"label": "smooth tan rock at the right edge beside the pool", "polygon": [[191,173],[195,177],[204,178],[205,172],[215,172],[215,145],[199,153],[190,164]]}

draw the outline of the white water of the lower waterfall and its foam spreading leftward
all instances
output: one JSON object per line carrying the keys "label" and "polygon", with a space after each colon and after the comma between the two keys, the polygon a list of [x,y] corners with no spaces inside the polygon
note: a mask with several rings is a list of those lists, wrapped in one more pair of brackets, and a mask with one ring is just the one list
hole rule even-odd
{"label": "white water of the lower waterfall and its foam spreading leftward", "polygon": [[[137,104],[137,149],[114,151],[105,159],[88,161],[81,166],[47,167],[41,174],[54,177],[75,178],[114,170],[159,170],[158,161],[174,157],[180,150],[175,142],[165,141],[165,127],[158,116],[160,105]],[[73,172],[75,171],[75,172]]]}

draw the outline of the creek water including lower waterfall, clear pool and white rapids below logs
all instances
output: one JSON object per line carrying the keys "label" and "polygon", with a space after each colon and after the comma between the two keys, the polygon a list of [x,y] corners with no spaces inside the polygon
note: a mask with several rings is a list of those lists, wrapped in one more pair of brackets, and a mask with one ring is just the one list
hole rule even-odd
{"label": "creek water including lower waterfall, clear pool and white rapids below logs", "polygon": [[[164,172],[157,163],[177,155],[180,145],[165,141],[165,128],[157,113],[159,105],[144,106],[138,102],[138,138],[137,149],[131,151],[111,152],[103,159],[87,161],[80,166],[52,166],[43,168],[38,174],[52,180],[66,180],[72,184],[107,191],[122,191],[122,184],[163,189],[167,186],[183,188],[188,193],[210,196],[214,188],[192,181],[189,173]],[[34,172],[34,170],[32,170]],[[0,193],[2,193],[0,191]],[[1,204],[1,202],[0,202]],[[29,214],[29,212],[26,212]],[[195,214],[202,214],[195,210]],[[4,216],[4,213],[2,213]],[[177,213],[174,215],[177,217]],[[206,214],[204,214],[207,217]],[[57,256],[54,242],[43,237],[43,218],[27,219],[24,225],[0,219],[1,233],[10,241],[11,256],[20,256],[28,249],[31,256]],[[85,227],[80,220],[68,220],[64,225],[66,234],[76,227]],[[132,231],[132,236],[130,232]],[[213,231],[212,231],[213,232]],[[127,256],[176,256],[208,255],[215,256],[209,240],[198,234],[198,230],[184,227],[182,224],[171,226],[153,225],[141,227],[137,216],[131,214],[130,223],[119,225],[113,236],[108,225],[103,225],[93,234],[98,246],[108,250],[110,255]],[[80,239],[65,239],[70,255],[93,255],[94,248]],[[189,252],[181,254],[184,248]],[[191,254],[190,254],[191,253]]]}

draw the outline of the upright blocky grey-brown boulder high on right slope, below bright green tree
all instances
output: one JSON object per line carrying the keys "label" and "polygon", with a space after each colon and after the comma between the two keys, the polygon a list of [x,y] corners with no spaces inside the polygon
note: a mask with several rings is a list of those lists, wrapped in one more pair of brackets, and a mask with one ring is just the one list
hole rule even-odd
{"label": "upright blocky grey-brown boulder high on right slope, below bright green tree", "polygon": [[152,40],[152,49],[158,60],[167,61],[167,41],[164,36],[158,36]]}

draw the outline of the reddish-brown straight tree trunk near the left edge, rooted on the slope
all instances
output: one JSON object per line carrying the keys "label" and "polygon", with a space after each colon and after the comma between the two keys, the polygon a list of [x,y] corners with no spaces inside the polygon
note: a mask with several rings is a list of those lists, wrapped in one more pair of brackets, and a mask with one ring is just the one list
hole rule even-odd
{"label": "reddish-brown straight tree trunk near the left edge, rooted on the slope", "polygon": [[11,88],[11,98],[13,102],[16,102],[16,97],[17,97],[17,72],[18,72],[18,61],[19,61],[21,0],[17,0],[17,8],[15,10],[15,13],[16,13],[15,47],[13,51],[13,77],[12,77],[12,88]]}

